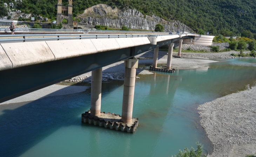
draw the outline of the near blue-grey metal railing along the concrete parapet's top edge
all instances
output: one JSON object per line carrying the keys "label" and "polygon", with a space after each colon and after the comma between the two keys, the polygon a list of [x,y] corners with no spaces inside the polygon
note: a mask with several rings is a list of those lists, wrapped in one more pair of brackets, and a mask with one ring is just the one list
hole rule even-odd
{"label": "near blue-grey metal railing along the concrete parapet's top edge", "polygon": [[[33,38],[35,36],[35,38]],[[42,37],[38,37],[42,36]],[[50,37],[49,37],[50,36]],[[22,37],[12,39],[1,39],[1,37]],[[26,38],[32,37],[32,38]],[[97,38],[129,38],[148,37],[148,35],[106,35],[106,34],[21,34],[21,35],[0,35],[0,42],[6,41],[31,41],[31,40],[60,40],[60,39],[97,39]]]}

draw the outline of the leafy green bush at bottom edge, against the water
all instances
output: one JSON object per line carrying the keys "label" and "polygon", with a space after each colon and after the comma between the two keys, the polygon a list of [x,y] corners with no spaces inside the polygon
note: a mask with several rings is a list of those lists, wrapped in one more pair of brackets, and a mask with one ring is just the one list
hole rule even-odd
{"label": "leafy green bush at bottom edge, against the water", "polygon": [[[191,147],[190,150],[186,147],[183,151],[180,150],[176,157],[201,157],[203,152],[203,145],[199,144],[198,142],[196,145],[196,150],[193,147]],[[206,157],[206,155],[204,155],[204,157]]]}

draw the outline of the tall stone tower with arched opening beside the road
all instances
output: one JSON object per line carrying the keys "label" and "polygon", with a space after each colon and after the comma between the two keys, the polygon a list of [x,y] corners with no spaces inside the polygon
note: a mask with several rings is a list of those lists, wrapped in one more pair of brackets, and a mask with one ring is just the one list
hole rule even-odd
{"label": "tall stone tower with arched opening beside the road", "polygon": [[63,19],[67,19],[67,22],[68,22],[67,25],[69,27],[72,27],[73,26],[72,9],[73,9],[72,0],[68,0],[67,7],[62,6],[62,0],[58,0],[56,24],[58,25],[60,22],[62,22]]}

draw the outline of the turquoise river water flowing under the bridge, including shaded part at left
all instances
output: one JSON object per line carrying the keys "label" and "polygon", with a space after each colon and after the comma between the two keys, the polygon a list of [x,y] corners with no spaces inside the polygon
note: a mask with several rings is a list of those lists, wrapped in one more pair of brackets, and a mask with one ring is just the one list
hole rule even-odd
{"label": "turquoise river water flowing under the bridge, including shaded part at left", "polygon": [[[136,79],[134,134],[81,123],[90,89],[31,102],[0,105],[0,156],[171,156],[211,142],[200,126],[198,105],[256,81],[256,59],[229,59],[193,70],[156,72]],[[121,114],[123,81],[102,84],[101,110]]]}

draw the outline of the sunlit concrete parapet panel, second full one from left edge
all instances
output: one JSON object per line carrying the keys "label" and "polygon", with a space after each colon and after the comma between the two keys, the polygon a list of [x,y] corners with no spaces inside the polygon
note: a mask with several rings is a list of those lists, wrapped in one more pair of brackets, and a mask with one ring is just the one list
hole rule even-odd
{"label": "sunlit concrete parapet panel, second full one from left edge", "polygon": [[55,60],[97,53],[90,39],[46,41],[55,56]]}

